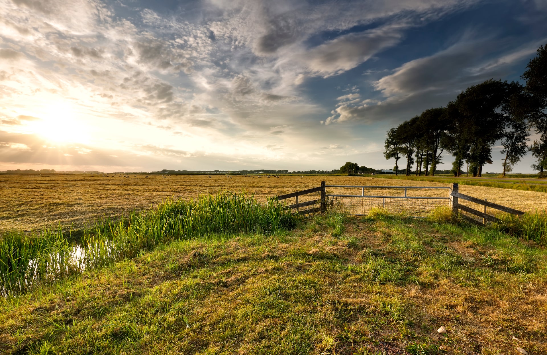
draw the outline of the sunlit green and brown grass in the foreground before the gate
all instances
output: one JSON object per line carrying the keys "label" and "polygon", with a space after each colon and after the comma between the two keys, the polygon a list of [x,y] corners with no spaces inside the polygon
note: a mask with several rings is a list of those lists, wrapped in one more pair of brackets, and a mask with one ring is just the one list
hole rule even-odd
{"label": "sunlit green and brown grass in the foreground before the gate", "polygon": [[546,276],[544,248],[492,229],[329,214],[175,241],[0,299],[0,351],[545,354]]}

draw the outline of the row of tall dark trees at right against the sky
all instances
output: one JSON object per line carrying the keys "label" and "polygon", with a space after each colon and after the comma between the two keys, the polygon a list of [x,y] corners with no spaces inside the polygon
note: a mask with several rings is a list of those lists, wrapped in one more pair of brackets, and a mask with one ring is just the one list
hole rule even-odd
{"label": "row of tall dark trees at right against the sky", "polygon": [[[459,176],[464,165],[473,176],[492,164],[492,147],[501,144],[503,176],[511,172],[528,151],[532,165],[544,177],[547,169],[547,44],[540,46],[518,82],[486,80],[462,91],[446,107],[430,108],[387,132],[384,156],[406,159],[406,174],[416,163],[416,175],[435,175],[442,154],[454,157],[452,173]],[[529,131],[539,138],[528,147]]]}

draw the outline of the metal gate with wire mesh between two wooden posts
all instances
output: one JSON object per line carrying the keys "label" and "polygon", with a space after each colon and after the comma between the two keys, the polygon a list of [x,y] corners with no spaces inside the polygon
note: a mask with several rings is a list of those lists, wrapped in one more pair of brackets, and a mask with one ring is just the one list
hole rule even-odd
{"label": "metal gate with wire mesh between two wooden posts", "polygon": [[[373,208],[425,217],[434,208],[450,206],[450,187],[327,185],[327,208],[365,215]],[[448,191],[447,191],[448,190]]]}

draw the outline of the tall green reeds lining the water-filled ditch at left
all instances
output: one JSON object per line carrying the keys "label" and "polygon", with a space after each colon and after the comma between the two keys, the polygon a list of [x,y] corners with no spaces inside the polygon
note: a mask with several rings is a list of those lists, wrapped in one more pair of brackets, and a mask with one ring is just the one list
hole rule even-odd
{"label": "tall green reeds lining the water-filled ditch at left", "polygon": [[253,195],[221,192],[190,200],[166,200],[157,208],[103,218],[86,227],[78,243],[59,230],[30,236],[5,232],[0,239],[0,293],[19,294],[34,284],[53,282],[90,267],[197,235],[272,234],[294,228],[282,203],[259,203]]}

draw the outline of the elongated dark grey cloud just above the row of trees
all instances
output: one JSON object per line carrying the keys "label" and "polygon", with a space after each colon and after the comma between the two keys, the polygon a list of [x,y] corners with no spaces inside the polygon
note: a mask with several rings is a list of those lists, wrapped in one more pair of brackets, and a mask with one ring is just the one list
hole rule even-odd
{"label": "elongated dark grey cloud just above the row of trees", "polygon": [[[324,123],[364,123],[411,117],[430,107],[445,106],[458,92],[490,78],[502,78],[514,62],[534,53],[538,42],[503,48],[492,38],[461,40],[445,50],[411,60],[373,82],[384,100],[344,101]],[[491,59],[493,48],[504,53]],[[341,96],[349,99],[348,95]],[[357,104],[359,102],[359,104]]]}

